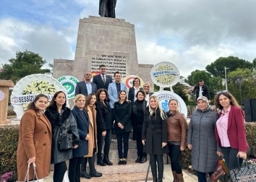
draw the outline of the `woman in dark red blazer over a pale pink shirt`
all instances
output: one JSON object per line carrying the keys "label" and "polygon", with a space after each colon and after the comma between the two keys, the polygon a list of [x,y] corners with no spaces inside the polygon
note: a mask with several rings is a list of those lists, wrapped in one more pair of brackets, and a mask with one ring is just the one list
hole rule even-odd
{"label": "woman in dark red blazer over a pale pink shirt", "polygon": [[[221,110],[216,123],[216,139],[221,147],[223,157],[229,170],[237,168],[236,157],[240,157],[242,165],[247,158],[247,140],[244,128],[244,113],[230,92],[224,90],[218,92],[215,97],[215,105]],[[218,152],[218,155],[222,155]]]}

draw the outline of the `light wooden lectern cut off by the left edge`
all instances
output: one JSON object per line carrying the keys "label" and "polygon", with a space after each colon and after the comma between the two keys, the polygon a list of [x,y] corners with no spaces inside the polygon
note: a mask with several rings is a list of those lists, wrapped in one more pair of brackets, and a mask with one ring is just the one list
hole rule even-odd
{"label": "light wooden lectern cut off by the left edge", "polygon": [[0,124],[11,123],[7,121],[9,87],[14,87],[10,80],[0,80]]}

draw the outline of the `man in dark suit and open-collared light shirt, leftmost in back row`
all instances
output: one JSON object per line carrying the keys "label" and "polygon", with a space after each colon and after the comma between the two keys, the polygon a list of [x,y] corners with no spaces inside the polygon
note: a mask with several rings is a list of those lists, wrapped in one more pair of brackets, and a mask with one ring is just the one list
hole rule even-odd
{"label": "man in dark suit and open-collared light shirt, leftmost in back row", "polygon": [[92,73],[87,71],[84,76],[85,80],[77,83],[77,87],[75,87],[74,95],[82,94],[87,97],[90,93],[97,92],[97,85],[93,82],[90,82],[92,79]]}

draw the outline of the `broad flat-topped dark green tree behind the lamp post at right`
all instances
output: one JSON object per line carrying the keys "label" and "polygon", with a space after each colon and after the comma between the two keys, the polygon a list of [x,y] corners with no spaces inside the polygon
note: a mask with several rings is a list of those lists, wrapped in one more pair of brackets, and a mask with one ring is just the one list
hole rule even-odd
{"label": "broad flat-topped dark green tree behind the lamp post at right", "polygon": [[234,56],[217,58],[216,61],[207,65],[205,69],[212,74],[213,77],[221,77],[225,79],[225,66],[229,68],[229,72],[235,71],[238,68],[253,69],[253,64],[251,62]]}

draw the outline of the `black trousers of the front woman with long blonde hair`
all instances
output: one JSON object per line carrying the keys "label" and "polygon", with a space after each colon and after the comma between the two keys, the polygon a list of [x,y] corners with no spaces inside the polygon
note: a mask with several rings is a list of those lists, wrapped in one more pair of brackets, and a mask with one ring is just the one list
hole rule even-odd
{"label": "black trousers of the front woman with long blonde hair", "polygon": [[163,178],[163,155],[150,154],[150,168],[153,178],[157,177],[156,162],[158,163],[158,179]]}

